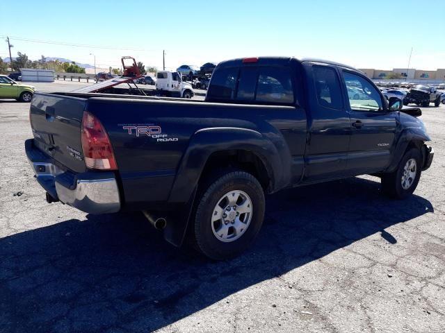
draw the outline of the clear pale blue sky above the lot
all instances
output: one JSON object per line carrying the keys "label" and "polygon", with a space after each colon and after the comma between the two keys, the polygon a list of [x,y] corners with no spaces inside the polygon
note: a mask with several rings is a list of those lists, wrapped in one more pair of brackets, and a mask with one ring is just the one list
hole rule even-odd
{"label": "clear pale blue sky above the lot", "polygon": [[[94,53],[101,67],[117,67],[127,55],[161,67],[165,49],[169,69],[246,56],[315,57],[392,69],[407,67],[414,47],[411,68],[445,68],[443,1],[339,2],[21,0],[20,8],[27,9],[2,15],[0,36],[10,36],[13,57],[21,51],[31,59],[92,64]],[[0,57],[8,57],[6,42],[0,45]]]}

